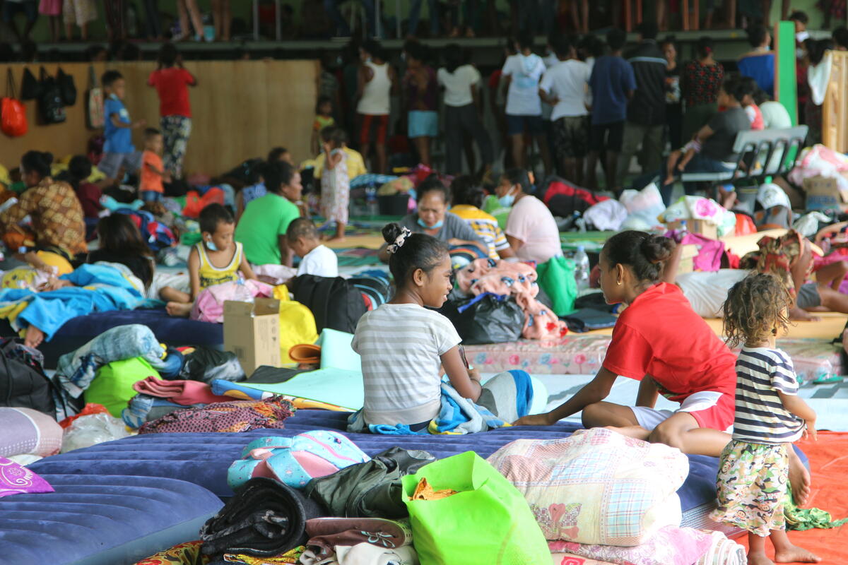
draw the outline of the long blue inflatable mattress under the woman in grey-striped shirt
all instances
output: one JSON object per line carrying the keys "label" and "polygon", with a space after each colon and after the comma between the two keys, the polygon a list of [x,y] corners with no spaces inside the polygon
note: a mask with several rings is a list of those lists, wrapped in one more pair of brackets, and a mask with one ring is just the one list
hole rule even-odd
{"label": "long blue inflatable mattress under the woman in grey-striped shirt", "polygon": [[[97,446],[47,457],[31,464],[39,474],[129,474],[171,477],[204,486],[218,496],[232,496],[226,484],[226,471],[241,457],[250,440],[266,435],[296,435],[310,429],[345,429],[348,414],[321,410],[300,410],[286,421],[286,429],[256,429],[242,434],[149,434],[109,441]],[[391,446],[429,451],[436,457],[449,457],[476,451],[488,457],[513,440],[550,440],[569,435],[577,424],[552,427],[522,426],[494,429],[471,435],[371,435],[344,432],[356,445],[374,455]],[[678,495],[684,525],[715,528],[706,514],[715,506],[715,457],[689,456],[689,478]]]}

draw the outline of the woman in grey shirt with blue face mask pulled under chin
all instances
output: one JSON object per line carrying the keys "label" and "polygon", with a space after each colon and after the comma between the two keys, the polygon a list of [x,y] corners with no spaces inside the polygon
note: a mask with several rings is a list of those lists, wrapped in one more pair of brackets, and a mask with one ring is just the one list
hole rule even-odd
{"label": "woman in grey shirt with blue face mask pulled under chin", "polygon": [[[488,257],[488,246],[477,233],[454,213],[448,212],[450,192],[432,174],[416,189],[418,212],[410,213],[400,220],[400,225],[413,233],[432,235],[449,246],[474,246],[481,257]],[[388,262],[387,245],[380,248],[380,260]]]}

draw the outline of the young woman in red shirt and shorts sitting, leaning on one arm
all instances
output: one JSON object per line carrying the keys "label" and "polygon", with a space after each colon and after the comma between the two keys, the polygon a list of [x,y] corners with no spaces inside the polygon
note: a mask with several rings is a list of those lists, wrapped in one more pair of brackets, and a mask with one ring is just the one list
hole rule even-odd
{"label": "young woman in red shirt and shorts sitting, leaning on one arm", "polygon": [[[736,356],[695,313],[683,291],[664,280],[677,270],[675,247],[667,237],[640,231],[623,231],[606,241],[600,288],[607,303],[627,308],[612,330],[603,366],[560,407],[516,424],[551,425],[582,410],[587,428],[612,427],[684,453],[719,456],[734,423]],[[618,375],[641,381],[635,407],[603,402]],[[656,410],[660,394],[680,407]],[[810,477],[793,455],[790,480],[795,501],[802,504]]]}

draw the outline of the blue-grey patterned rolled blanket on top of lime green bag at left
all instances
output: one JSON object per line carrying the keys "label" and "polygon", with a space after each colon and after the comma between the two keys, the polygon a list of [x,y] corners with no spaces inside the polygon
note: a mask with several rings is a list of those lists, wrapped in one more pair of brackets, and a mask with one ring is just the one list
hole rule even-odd
{"label": "blue-grey patterned rolled blanket on top of lime green bag at left", "polygon": [[56,376],[68,395],[78,398],[97,376],[98,368],[114,361],[142,357],[150,366],[165,368],[165,347],[142,324],[119,325],[106,330],[75,352],[59,357]]}

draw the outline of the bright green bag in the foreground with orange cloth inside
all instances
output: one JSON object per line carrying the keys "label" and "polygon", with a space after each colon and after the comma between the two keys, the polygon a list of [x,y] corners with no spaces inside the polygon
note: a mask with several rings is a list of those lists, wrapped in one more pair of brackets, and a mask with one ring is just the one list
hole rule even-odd
{"label": "bright green bag in the foreground with orange cloth inside", "polygon": [[[459,493],[410,501],[421,478]],[[524,496],[477,453],[466,451],[405,475],[404,501],[421,565],[531,565],[550,551]]]}

